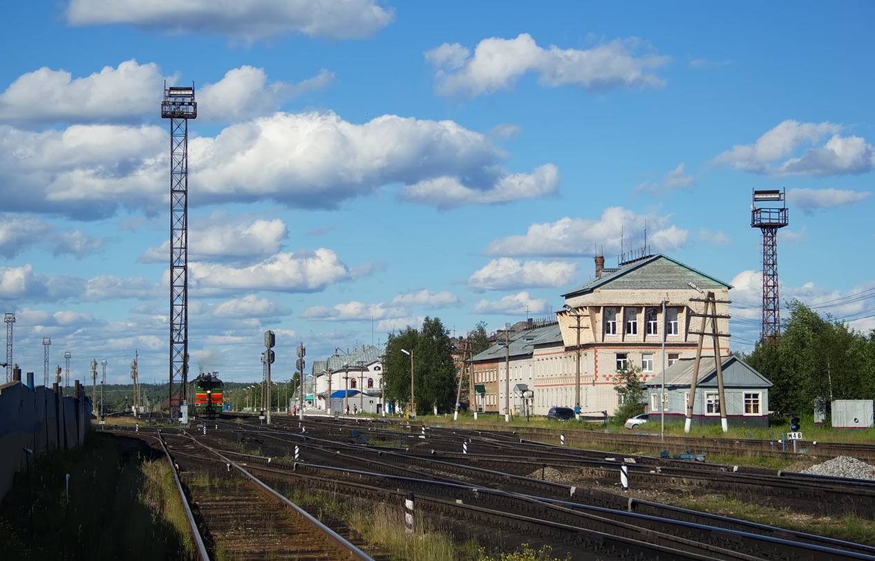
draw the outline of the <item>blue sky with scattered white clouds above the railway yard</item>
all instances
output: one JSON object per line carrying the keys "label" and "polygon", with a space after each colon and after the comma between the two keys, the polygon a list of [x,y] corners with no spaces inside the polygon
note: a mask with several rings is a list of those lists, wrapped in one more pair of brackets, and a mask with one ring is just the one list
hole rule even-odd
{"label": "blue sky with scattered white clouds above the railway yard", "polygon": [[[279,377],[438,317],[547,318],[647,242],[760,333],[753,189],[786,188],[781,300],[868,333],[871,2],[69,0],[0,8],[0,306],[42,380],[168,377],[165,81],[189,126],[193,374]],[[788,312],[782,312],[788,317]],[[309,367],[308,367],[309,369]]]}

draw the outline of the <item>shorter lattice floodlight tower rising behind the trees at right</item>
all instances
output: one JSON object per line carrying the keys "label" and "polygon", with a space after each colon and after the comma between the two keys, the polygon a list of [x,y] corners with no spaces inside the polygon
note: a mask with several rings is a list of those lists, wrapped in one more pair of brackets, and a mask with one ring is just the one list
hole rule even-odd
{"label": "shorter lattice floodlight tower rising behind the trees at right", "polygon": [[[780,207],[759,205],[780,203]],[[784,190],[753,191],[751,228],[763,233],[763,326],[761,340],[776,342],[781,337],[781,300],[778,298],[778,228],[788,225]]]}

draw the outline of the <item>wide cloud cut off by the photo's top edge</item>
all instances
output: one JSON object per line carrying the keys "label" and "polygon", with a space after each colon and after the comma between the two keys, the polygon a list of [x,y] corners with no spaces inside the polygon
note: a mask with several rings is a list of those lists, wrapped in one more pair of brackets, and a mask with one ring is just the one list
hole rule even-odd
{"label": "wide cloud cut off by the photo's top edge", "polygon": [[71,0],[71,25],[128,24],[167,32],[202,32],[241,39],[289,32],[359,39],[388,25],[394,12],[374,0]]}

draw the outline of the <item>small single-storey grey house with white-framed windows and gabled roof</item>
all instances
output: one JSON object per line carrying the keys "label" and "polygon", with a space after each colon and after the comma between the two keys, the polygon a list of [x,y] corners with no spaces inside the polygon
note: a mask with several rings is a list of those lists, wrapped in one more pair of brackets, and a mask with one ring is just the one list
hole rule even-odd
{"label": "small single-storey grey house with white-framed windows and gabled roof", "polygon": [[[644,384],[648,391],[648,413],[651,422],[665,414],[665,420],[677,422],[686,416],[690,387],[695,373],[695,359],[675,361],[665,370],[665,398],[662,407],[660,389],[662,375],[657,373]],[[735,426],[768,426],[768,390],[772,387],[765,376],[737,356],[722,362],[726,421]],[[720,424],[717,361],[702,357],[699,363],[696,399],[693,403],[693,424]]]}

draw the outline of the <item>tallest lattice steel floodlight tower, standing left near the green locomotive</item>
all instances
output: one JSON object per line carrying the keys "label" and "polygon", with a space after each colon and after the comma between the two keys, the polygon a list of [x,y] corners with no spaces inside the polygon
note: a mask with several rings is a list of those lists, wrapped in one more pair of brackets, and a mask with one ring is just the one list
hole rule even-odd
{"label": "tallest lattice steel floodlight tower, standing left near the green locomotive", "polygon": [[198,116],[191,88],[168,88],[161,116],[170,119],[170,415],[179,417],[188,386],[188,120]]}

